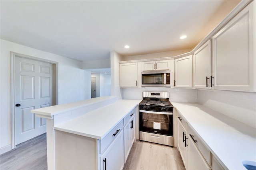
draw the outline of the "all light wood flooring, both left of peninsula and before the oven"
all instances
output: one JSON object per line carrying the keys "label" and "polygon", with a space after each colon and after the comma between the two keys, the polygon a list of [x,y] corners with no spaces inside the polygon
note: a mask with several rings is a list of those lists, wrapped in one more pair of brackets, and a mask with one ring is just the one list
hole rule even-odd
{"label": "all light wood flooring, both left of peninsula and before the oven", "polygon": [[[46,134],[1,154],[0,170],[47,170]],[[185,170],[185,167],[176,148],[136,141],[123,170]]]}

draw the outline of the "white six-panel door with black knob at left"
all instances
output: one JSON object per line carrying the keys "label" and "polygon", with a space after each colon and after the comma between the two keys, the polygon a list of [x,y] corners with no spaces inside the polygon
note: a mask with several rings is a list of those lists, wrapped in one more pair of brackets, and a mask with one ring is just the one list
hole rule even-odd
{"label": "white six-panel door with black knob at left", "polygon": [[15,57],[15,145],[46,132],[46,120],[30,110],[52,106],[52,79],[53,64]]}

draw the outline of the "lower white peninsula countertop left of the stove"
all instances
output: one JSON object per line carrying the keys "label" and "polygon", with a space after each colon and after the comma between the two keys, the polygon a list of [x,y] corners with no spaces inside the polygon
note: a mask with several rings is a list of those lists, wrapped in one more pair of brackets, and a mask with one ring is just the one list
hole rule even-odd
{"label": "lower white peninsula countertop left of the stove", "polygon": [[141,100],[117,100],[54,129],[95,139],[103,139]]}

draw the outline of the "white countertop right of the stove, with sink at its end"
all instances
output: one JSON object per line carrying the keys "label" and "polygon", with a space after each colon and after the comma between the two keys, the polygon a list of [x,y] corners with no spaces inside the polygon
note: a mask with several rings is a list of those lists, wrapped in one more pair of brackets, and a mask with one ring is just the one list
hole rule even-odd
{"label": "white countertop right of the stove, with sink at its end", "polygon": [[243,160],[256,161],[255,128],[200,104],[172,102],[172,105],[224,168],[246,170]]}

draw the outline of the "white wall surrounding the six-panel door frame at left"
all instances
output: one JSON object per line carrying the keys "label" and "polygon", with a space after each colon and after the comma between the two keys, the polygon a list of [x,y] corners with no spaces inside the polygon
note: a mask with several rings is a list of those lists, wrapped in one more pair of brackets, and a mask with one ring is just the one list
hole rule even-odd
{"label": "white wall surrounding the six-panel door frame at left", "polygon": [[58,62],[58,104],[90,98],[90,72],[80,61],[0,40],[0,151],[11,146],[11,68],[10,51]]}

